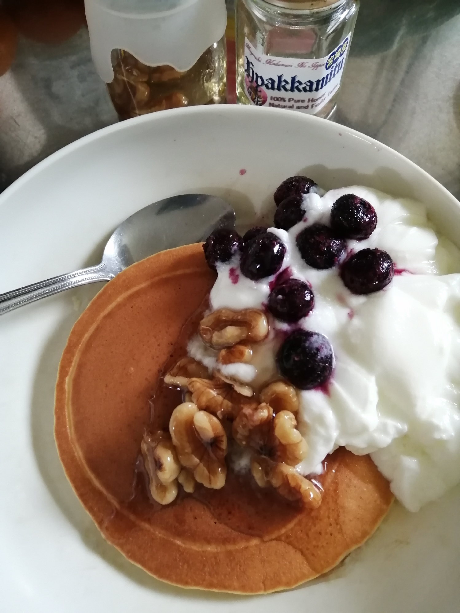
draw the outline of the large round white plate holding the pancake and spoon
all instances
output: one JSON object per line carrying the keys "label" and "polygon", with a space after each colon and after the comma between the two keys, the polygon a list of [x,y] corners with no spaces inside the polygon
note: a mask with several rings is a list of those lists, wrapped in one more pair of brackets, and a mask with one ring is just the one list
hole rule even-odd
{"label": "large round white plate holding the pancake and spoon", "polygon": [[[208,192],[250,221],[297,173],[326,189],[361,184],[420,199],[460,246],[458,202],[380,143],[301,113],[196,107],[91,134],[7,189],[0,196],[0,292],[96,264],[113,228],[150,202]],[[75,289],[0,317],[2,612],[206,613],[218,606],[238,613],[458,613],[459,487],[417,514],[394,504],[376,535],[339,568],[274,595],[173,588],[105,543],[67,483],[53,439],[59,357],[98,289]]]}

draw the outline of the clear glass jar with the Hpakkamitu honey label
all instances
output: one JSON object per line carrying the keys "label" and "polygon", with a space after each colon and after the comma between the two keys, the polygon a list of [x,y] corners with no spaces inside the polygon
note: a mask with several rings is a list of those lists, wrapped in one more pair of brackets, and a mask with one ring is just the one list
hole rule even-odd
{"label": "clear glass jar with the Hpakkamitu honey label", "polygon": [[359,0],[236,0],[237,100],[331,118]]}

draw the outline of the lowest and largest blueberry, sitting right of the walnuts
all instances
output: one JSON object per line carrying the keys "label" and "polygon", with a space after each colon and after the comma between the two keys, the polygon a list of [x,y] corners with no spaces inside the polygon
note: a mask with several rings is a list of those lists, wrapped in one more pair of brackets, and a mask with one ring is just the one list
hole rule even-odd
{"label": "lowest and largest blueberry, sitting right of the walnuts", "polygon": [[328,381],[334,370],[334,352],[318,332],[295,330],[277,353],[278,369],[299,389],[313,389]]}

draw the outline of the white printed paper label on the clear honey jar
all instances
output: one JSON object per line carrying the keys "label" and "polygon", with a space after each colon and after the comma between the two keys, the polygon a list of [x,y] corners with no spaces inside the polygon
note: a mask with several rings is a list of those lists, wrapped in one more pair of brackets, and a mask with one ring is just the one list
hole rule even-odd
{"label": "white printed paper label on the clear honey jar", "polygon": [[325,58],[263,55],[245,39],[245,93],[256,106],[318,113],[339,91],[351,33]]}

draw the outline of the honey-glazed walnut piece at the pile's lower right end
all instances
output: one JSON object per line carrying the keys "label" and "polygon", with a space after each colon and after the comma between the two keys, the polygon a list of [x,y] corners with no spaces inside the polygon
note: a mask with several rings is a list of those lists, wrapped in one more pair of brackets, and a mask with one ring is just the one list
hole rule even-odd
{"label": "honey-glazed walnut piece at the pile's lower right end", "polygon": [[321,492],[309,479],[297,473],[293,466],[254,455],[251,459],[251,473],[260,487],[272,485],[288,500],[299,500],[310,509],[316,509],[321,504]]}

